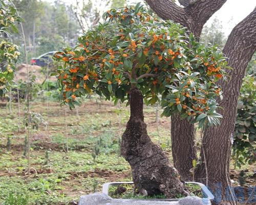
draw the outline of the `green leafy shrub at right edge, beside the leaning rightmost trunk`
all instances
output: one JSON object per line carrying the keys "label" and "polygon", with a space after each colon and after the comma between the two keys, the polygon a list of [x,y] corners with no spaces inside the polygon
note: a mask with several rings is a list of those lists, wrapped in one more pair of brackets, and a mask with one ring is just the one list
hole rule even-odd
{"label": "green leafy shrub at right edge, beside the leaning rightmost trunk", "polygon": [[253,76],[246,76],[240,90],[238,113],[234,131],[233,158],[235,165],[255,162],[256,147],[256,84]]}

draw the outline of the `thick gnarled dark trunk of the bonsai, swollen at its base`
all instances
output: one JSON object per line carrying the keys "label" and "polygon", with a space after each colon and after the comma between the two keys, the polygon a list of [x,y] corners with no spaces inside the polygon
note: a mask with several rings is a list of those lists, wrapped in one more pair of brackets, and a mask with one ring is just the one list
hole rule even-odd
{"label": "thick gnarled dark trunk of the bonsai, swollen at its base", "polygon": [[146,195],[163,193],[174,198],[185,194],[184,184],[163,150],[147,135],[143,117],[143,96],[139,89],[131,89],[131,117],[122,135],[121,154],[133,170],[137,190]]}

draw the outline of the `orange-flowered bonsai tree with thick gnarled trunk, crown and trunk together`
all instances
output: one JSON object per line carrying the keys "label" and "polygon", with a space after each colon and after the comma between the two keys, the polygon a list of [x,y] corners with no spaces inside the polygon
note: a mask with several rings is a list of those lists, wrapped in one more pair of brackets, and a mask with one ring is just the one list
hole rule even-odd
{"label": "orange-flowered bonsai tree with thick gnarled trunk, crown and trunk together", "polygon": [[224,77],[226,60],[217,48],[205,48],[185,28],[149,15],[141,5],[112,9],[103,18],[78,39],[79,45],[55,54],[65,62],[57,74],[62,103],[74,108],[77,97],[92,93],[115,103],[127,100],[131,116],[121,153],[132,167],[137,191],[187,195],[178,172],[147,135],[143,99],[154,104],[161,95],[163,116],[180,113],[200,127],[217,125],[221,89],[215,82]]}

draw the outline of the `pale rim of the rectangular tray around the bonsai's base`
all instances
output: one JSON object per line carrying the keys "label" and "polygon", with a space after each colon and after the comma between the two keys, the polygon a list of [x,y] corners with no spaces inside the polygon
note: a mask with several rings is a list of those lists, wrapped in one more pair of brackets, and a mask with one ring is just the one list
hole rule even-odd
{"label": "pale rim of the rectangular tray around the bonsai's base", "polygon": [[[111,183],[105,183],[103,184],[103,187],[102,187],[102,193],[106,194],[106,195],[109,195],[109,189],[110,187],[112,186],[117,186],[117,185],[122,185],[122,184],[133,184],[133,181],[125,181],[125,182],[111,182]],[[202,189],[202,193],[203,193],[203,198],[206,198],[208,200],[213,200],[214,199],[214,195],[212,195],[212,193],[208,190],[208,188],[201,184],[201,183],[197,183],[197,182],[191,182],[191,181],[186,181],[185,184],[196,184],[196,185],[199,185]],[[136,199],[134,199],[136,200]],[[138,200],[158,200],[158,201],[178,201],[180,200],[179,199],[138,199]]]}

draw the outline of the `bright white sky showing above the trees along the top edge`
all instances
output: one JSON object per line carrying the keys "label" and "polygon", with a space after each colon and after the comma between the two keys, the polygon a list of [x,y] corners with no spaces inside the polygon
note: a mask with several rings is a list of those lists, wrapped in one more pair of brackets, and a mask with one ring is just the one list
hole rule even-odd
{"label": "bright white sky showing above the trees along the top edge", "polygon": [[[55,0],[44,0],[54,2]],[[61,0],[67,4],[74,4],[76,0]],[[78,0],[79,2],[80,0]],[[127,0],[127,3],[143,2],[143,0]],[[255,0],[227,0],[227,2],[206,22],[210,26],[214,18],[221,21],[223,31],[226,36],[232,31],[241,20],[243,20],[256,7]]]}

